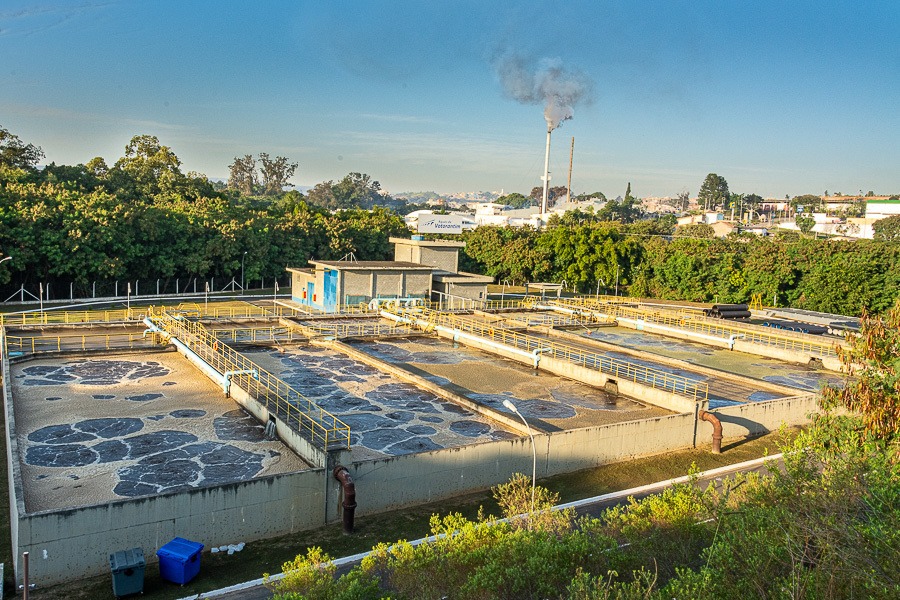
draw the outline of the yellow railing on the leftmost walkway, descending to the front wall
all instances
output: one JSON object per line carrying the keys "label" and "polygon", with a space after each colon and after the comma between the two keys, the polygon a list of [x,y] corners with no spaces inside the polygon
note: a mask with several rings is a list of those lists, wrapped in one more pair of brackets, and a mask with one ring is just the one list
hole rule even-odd
{"label": "yellow railing on the leftmost walkway, descending to the front wall", "polygon": [[[244,355],[220,342],[202,325],[166,312],[155,312],[152,322],[176,338],[223,375],[234,381],[289,427],[323,449],[350,447],[350,427],[287,383],[260,368]],[[255,371],[258,378],[241,371]]]}

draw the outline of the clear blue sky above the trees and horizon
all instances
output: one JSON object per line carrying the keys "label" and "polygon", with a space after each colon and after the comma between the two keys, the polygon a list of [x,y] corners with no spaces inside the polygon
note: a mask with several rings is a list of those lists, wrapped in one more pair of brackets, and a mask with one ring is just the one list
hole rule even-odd
{"label": "clear blue sky above the trees and horizon", "polygon": [[900,2],[0,3],[0,125],[47,162],[112,163],[133,135],[227,177],[268,152],[314,185],[541,185],[542,106],[498,56],[558,60],[592,101],[553,134],[553,185],[783,197],[900,192]]}

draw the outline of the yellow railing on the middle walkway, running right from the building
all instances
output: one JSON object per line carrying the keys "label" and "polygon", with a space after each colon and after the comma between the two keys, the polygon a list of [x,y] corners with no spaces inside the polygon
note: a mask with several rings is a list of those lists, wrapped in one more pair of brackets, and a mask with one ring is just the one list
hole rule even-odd
{"label": "yellow railing on the middle walkway, running right from the building", "polygon": [[426,330],[433,329],[436,325],[443,325],[463,333],[489,339],[497,344],[596,369],[612,377],[631,380],[655,389],[686,396],[694,401],[705,401],[709,397],[709,386],[703,381],[613,358],[556,340],[519,333],[493,324],[466,319],[459,315],[428,309],[398,310],[395,314],[410,320],[421,320],[424,322],[422,327]]}

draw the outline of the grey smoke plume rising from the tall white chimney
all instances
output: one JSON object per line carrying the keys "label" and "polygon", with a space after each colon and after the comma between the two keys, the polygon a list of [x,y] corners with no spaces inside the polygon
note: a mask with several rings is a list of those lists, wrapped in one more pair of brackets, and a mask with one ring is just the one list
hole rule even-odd
{"label": "grey smoke plume rising from the tall white chimney", "polygon": [[507,95],[524,104],[544,105],[548,131],[571,119],[576,104],[591,101],[591,80],[566,70],[559,59],[544,58],[532,65],[522,57],[506,55],[494,66]]}

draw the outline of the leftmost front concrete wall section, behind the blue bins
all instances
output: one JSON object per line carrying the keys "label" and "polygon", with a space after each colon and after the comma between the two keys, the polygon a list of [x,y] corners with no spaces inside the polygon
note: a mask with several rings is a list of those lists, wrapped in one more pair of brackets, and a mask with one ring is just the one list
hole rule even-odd
{"label": "leftmost front concrete wall section, behind the blue bins", "polygon": [[[122,500],[63,511],[18,515],[13,548],[38,586],[109,572],[109,554],[156,551],[178,536],[218,546],[321,526],[324,470]],[[336,500],[335,500],[336,502]],[[21,564],[16,564],[21,581]]]}

